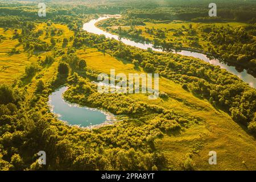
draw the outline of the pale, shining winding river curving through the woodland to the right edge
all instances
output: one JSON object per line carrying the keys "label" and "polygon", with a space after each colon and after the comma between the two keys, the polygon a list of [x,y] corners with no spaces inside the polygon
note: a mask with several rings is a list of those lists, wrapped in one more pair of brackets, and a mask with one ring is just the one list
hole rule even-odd
{"label": "pale, shining winding river curving through the woodland to the right edge", "polygon": [[[95,23],[99,22],[100,20],[108,19],[111,17],[119,17],[119,15],[102,16],[98,19],[90,20],[90,22],[84,24],[83,30],[88,31],[89,33],[97,34],[97,35],[105,35],[106,38],[110,38],[110,39],[113,38],[115,40],[119,40],[129,46],[135,46],[135,47],[138,47],[141,49],[151,48],[153,51],[163,52],[163,50],[160,48],[154,48],[153,44],[136,43],[133,40],[129,40],[126,38],[119,38],[118,35],[110,34],[109,32],[103,31],[100,28],[95,26]],[[247,82],[247,84],[249,84],[251,87],[256,88],[256,78],[254,78],[252,75],[247,73],[247,71],[245,69],[242,72],[238,72],[235,67],[229,66],[228,64],[225,64],[225,63],[222,63],[218,59],[210,59],[210,58],[208,58],[207,55],[204,55],[203,53],[192,52],[192,51],[180,51],[180,52],[176,52],[176,53],[178,53],[180,55],[184,55],[184,56],[196,57],[201,60],[204,60],[207,63],[213,64],[216,66],[220,66],[220,68],[226,69],[226,71],[232,73],[233,75],[238,76],[241,80]]]}

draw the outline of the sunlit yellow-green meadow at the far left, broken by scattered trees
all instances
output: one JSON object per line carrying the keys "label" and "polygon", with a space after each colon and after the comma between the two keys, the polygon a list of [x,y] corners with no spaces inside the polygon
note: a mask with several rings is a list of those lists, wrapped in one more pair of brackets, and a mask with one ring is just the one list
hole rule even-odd
{"label": "sunlit yellow-green meadow at the far left, broken by scattered trees", "polygon": [[[52,24],[51,27],[55,27],[63,31],[61,35],[46,36],[46,23],[36,24],[34,31],[43,30],[44,34],[39,37],[40,40],[50,43],[51,38],[56,40],[56,46],[62,49],[63,39],[69,39],[73,36],[73,32],[68,29],[67,26],[63,24]],[[0,42],[0,84],[12,84],[16,78],[20,78],[24,74],[26,65],[36,63],[41,56],[42,60],[46,55],[51,55],[53,52],[25,52],[23,46],[18,42],[17,39],[12,39],[14,35],[14,30],[5,31],[0,28],[0,35],[4,36]],[[20,30],[18,33],[20,34]],[[59,40],[59,42],[57,42]],[[72,46],[72,42],[68,43],[67,47]],[[11,48],[16,48],[20,53],[10,54]]]}

